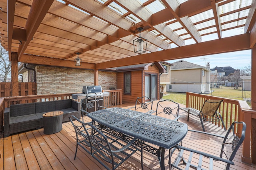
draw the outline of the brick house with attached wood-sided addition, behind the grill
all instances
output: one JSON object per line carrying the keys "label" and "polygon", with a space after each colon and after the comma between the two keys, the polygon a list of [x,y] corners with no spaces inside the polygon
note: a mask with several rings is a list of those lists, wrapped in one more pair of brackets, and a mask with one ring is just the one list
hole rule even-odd
{"label": "brick house with attached wood-sided addition, behind the grill", "polygon": [[[137,97],[159,99],[159,75],[165,72],[160,62],[99,70],[102,90],[122,89],[122,103]],[[23,82],[36,82],[37,94],[81,93],[83,86],[94,85],[94,70],[21,64]]]}

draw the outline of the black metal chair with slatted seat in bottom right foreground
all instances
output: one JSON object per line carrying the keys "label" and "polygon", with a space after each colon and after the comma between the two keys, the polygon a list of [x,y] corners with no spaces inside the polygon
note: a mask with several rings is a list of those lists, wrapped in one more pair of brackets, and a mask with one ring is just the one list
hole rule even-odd
{"label": "black metal chair with slatted seat in bottom right foreground", "polygon": [[[242,125],[242,135],[240,138],[236,136],[236,132],[234,131],[234,126],[241,124]],[[182,169],[189,169],[190,167],[194,167],[197,169],[203,169],[202,168],[202,161],[209,162],[209,169],[218,169],[218,167],[214,168],[214,161],[221,161],[223,164],[226,164],[226,170],[230,169],[230,165],[234,165],[234,162],[232,161],[234,157],[236,156],[236,152],[239,149],[240,145],[244,141],[245,136],[245,130],[246,130],[246,124],[244,122],[236,122],[234,121],[230,128],[228,129],[224,140],[222,142],[222,148],[220,151],[220,156],[215,156],[212,154],[208,154],[205,152],[201,152],[198,150],[186,148],[184,146],[176,145],[172,148],[171,154],[169,153],[169,160],[171,160],[172,155],[177,155],[175,160],[170,164],[170,168],[177,168],[179,170]],[[199,131],[200,133],[205,133],[202,131]],[[232,134],[232,136],[230,135]],[[210,133],[205,133],[207,135],[211,135]],[[205,145],[205,144],[204,144]],[[230,148],[231,150],[228,150]],[[225,152],[226,150],[226,152]],[[178,151],[178,153],[176,153]],[[174,154],[175,153],[175,154]],[[184,158],[184,155],[189,155]],[[225,156],[223,156],[225,155]],[[228,155],[230,155],[228,157]],[[188,157],[188,158],[187,158]],[[226,157],[226,158],[223,158]],[[199,158],[199,159],[198,159]],[[204,160],[207,159],[207,160]],[[186,164],[186,168],[182,168],[180,161],[183,161],[183,164]],[[197,165],[194,165],[194,162],[198,162]],[[193,163],[193,164],[192,164]]]}

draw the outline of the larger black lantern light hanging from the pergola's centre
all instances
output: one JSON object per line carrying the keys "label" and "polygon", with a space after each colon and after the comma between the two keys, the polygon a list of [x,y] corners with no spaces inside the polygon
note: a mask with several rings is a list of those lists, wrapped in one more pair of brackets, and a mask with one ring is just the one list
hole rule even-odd
{"label": "larger black lantern light hanging from the pergola's centre", "polygon": [[[143,30],[142,27],[137,28],[137,31],[141,32],[142,30]],[[146,45],[145,45],[145,48],[144,48],[145,43],[146,43]],[[148,45],[148,40],[141,37],[141,36],[133,40],[133,47],[134,47],[134,52],[135,53],[138,53],[138,54],[145,53],[147,51],[147,45]]]}

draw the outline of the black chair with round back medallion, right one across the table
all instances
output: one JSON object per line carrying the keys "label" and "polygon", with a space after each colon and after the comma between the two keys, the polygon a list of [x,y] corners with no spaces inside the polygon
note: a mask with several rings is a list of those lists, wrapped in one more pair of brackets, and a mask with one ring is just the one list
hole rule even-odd
{"label": "black chair with round back medallion, right one across the table", "polygon": [[[164,106],[166,102],[169,101],[168,106]],[[174,119],[173,120],[177,120],[179,119],[179,109],[180,109],[180,105],[176,102],[173,102],[172,100],[166,99],[166,100],[160,100],[159,102],[157,102],[157,106],[156,106],[156,115],[160,114],[160,113],[164,113],[164,114],[168,114],[168,115],[173,115]]]}

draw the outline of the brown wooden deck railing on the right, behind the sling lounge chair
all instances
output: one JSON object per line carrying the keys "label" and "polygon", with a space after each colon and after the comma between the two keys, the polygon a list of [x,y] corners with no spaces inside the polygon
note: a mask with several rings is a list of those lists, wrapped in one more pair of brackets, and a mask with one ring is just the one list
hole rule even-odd
{"label": "brown wooden deck railing on the right, behind the sling lounge chair", "polygon": [[[228,98],[220,98],[216,96],[209,96],[204,94],[197,94],[192,92],[186,92],[186,107],[192,107],[200,110],[204,104],[205,100],[223,100],[222,104],[219,107],[218,112],[222,115],[224,124],[228,129],[233,121],[244,121],[242,109],[250,109],[248,104],[242,100],[234,100]],[[215,125],[223,128],[223,125],[220,121],[212,121]],[[241,134],[240,128],[236,131],[238,134]],[[242,127],[241,127],[242,128]]]}

